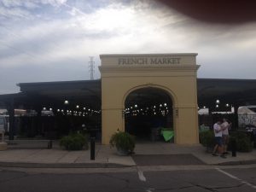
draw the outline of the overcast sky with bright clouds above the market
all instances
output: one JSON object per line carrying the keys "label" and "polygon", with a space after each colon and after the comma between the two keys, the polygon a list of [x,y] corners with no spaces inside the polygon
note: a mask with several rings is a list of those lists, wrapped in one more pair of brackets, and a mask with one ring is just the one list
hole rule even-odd
{"label": "overcast sky with bright clouds above the market", "polygon": [[[207,22],[157,1],[0,0],[0,94],[99,79],[101,54],[198,53],[199,78],[256,79],[256,22]],[[197,12],[196,12],[197,13]]]}

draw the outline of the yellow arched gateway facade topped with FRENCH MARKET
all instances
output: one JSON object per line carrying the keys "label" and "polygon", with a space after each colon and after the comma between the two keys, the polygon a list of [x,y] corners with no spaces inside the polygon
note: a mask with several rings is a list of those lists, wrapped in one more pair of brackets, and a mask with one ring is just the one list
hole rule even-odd
{"label": "yellow arched gateway facade topped with FRENCH MARKET", "polygon": [[171,96],[174,142],[198,143],[196,55],[100,55],[102,143],[108,144],[114,131],[125,131],[125,98],[131,91],[144,87],[160,88]]}

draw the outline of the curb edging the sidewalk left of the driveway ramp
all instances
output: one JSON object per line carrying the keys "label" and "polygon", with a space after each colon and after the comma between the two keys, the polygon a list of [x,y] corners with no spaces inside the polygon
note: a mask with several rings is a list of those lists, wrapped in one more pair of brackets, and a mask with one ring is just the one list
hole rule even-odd
{"label": "curb edging the sidewalk left of the driveway ramp", "polygon": [[123,168],[131,167],[117,163],[16,163],[0,162],[0,167],[22,167],[22,168]]}

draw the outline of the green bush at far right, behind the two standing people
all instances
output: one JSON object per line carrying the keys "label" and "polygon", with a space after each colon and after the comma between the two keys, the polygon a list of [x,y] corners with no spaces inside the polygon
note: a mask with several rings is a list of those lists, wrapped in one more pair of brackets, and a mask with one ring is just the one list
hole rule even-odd
{"label": "green bush at far right, behind the two standing people", "polygon": [[[230,143],[236,141],[236,149],[240,152],[250,152],[253,150],[253,143],[245,132],[236,131],[230,136]],[[230,147],[231,148],[231,147]]]}

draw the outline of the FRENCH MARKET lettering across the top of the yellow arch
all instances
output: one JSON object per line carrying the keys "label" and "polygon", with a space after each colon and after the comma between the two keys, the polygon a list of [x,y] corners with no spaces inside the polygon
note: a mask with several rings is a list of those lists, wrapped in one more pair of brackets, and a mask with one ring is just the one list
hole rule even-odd
{"label": "FRENCH MARKET lettering across the top of the yellow arch", "polygon": [[180,64],[177,57],[121,57],[119,65],[172,65]]}

